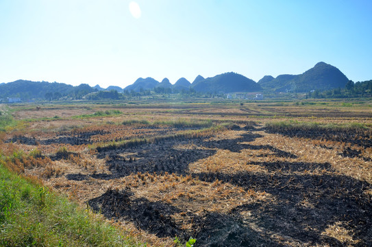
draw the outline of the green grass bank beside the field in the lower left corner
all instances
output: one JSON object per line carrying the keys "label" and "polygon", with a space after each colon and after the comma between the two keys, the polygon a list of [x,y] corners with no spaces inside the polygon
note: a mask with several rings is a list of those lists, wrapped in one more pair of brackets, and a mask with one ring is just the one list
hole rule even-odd
{"label": "green grass bank beside the field in the lower left corner", "polygon": [[10,172],[4,161],[0,156],[0,246],[141,246],[101,216]]}

